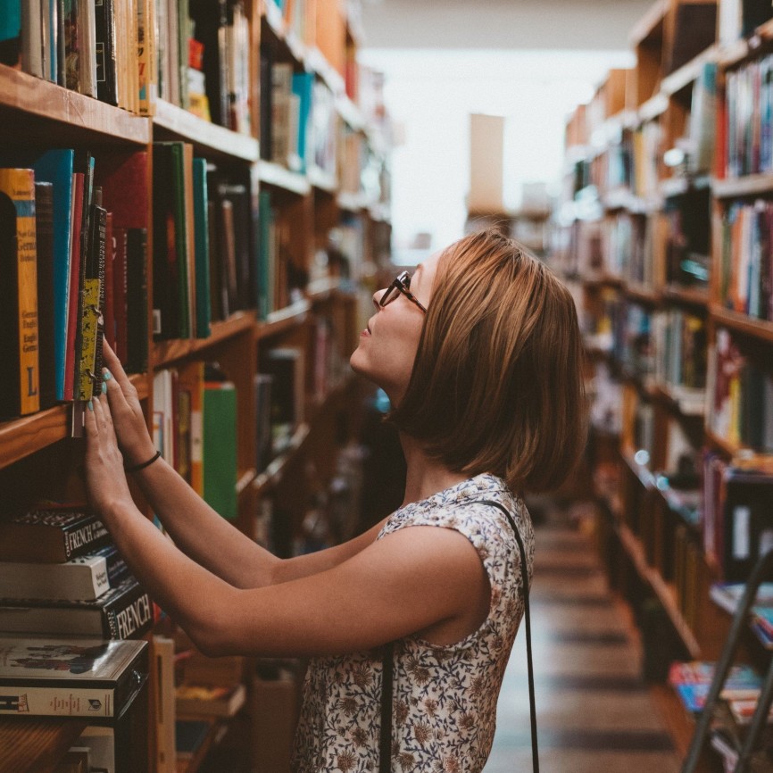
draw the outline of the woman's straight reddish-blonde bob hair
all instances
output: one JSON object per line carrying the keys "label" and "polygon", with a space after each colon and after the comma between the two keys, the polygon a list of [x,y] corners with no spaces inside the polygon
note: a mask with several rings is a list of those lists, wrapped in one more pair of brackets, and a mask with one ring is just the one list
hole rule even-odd
{"label": "woman's straight reddish-blonde bob hair", "polygon": [[427,453],[511,490],[560,486],[586,442],[575,304],[543,262],[494,230],[445,249],[403,400]]}

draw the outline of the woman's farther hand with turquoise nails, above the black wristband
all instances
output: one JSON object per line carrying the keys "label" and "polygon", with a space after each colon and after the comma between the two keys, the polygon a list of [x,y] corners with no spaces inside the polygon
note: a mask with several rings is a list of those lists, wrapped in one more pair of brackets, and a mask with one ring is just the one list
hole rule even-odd
{"label": "woman's farther hand with turquoise nails, above the black wristband", "polygon": [[115,436],[128,467],[151,458],[155,447],[145,424],[145,414],[137,397],[137,389],[129,381],[121,361],[105,342],[103,344],[104,386],[110,403]]}

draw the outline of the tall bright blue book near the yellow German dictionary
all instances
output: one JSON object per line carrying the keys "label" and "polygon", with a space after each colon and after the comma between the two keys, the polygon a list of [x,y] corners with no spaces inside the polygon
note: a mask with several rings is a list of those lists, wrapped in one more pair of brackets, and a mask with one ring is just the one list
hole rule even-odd
{"label": "tall bright blue book near the yellow German dictionary", "polygon": [[54,149],[41,155],[32,165],[37,182],[54,185],[54,385],[56,399],[60,401],[64,400],[74,159],[74,150]]}

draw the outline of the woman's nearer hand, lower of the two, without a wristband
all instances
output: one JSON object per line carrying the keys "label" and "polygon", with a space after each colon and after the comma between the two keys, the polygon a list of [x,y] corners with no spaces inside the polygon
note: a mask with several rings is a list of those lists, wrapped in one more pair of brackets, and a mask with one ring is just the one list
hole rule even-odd
{"label": "woman's nearer hand, lower of the two, without a wristband", "polygon": [[109,517],[116,504],[134,505],[123,470],[123,455],[112,427],[110,406],[104,397],[88,403],[85,472],[88,501],[96,511]]}

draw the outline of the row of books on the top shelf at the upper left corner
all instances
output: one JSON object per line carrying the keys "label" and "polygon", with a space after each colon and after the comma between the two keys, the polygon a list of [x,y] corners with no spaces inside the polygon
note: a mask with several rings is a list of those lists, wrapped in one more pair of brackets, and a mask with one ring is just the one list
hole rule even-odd
{"label": "row of books on the top shelf at the upper left corner", "polygon": [[148,114],[152,9],[151,0],[4,0],[0,63]]}

